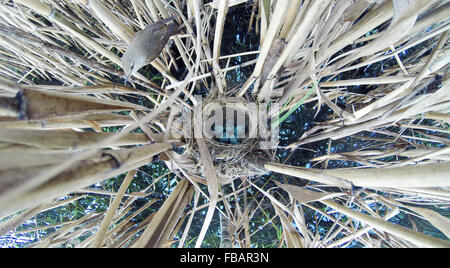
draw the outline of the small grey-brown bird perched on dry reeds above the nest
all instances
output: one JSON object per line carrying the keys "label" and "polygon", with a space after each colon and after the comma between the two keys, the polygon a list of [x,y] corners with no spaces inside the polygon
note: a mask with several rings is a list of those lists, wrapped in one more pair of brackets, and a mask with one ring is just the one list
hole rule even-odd
{"label": "small grey-brown bird perched on dry reeds above the nest", "polygon": [[157,21],[137,32],[122,56],[122,67],[125,72],[125,84],[128,77],[156,59],[172,35],[178,34],[178,25],[173,17]]}

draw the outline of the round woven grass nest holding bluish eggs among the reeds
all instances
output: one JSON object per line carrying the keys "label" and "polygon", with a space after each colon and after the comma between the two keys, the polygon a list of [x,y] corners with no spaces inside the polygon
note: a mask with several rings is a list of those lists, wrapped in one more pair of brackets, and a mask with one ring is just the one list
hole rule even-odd
{"label": "round woven grass nest holding bluish eggs among the reeds", "polygon": [[[258,126],[267,124],[267,118],[261,118],[256,105],[238,97],[215,97],[204,99],[201,107],[200,119],[196,121],[195,113],[193,116],[194,139],[186,140],[187,147],[183,153],[195,163],[191,172],[205,174],[196,140],[203,138],[221,184],[239,177],[265,174],[264,163],[273,157],[270,150],[259,146]],[[199,126],[201,137],[195,136],[199,130],[194,128]]]}

